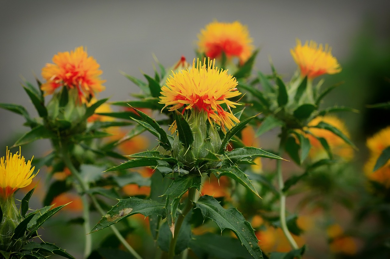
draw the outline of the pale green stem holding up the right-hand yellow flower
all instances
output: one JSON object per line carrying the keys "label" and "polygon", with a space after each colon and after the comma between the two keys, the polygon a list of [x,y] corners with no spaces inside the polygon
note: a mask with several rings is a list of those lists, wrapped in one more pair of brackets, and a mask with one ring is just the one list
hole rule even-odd
{"label": "pale green stem holding up the right-hand yellow flower", "polygon": [[[279,156],[282,156],[283,150],[284,150],[284,135],[283,130],[280,137],[280,146],[279,146]],[[286,223],[286,196],[283,192],[284,188],[284,181],[283,181],[283,175],[282,175],[282,160],[277,160],[277,174],[278,174],[278,184],[279,184],[279,196],[280,196],[280,226],[282,227],[282,231],[284,235],[286,236],[287,240],[289,241],[291,247],[296,250],[298,249],[298,245],[296,244],[293,236],[291,236],[291,233],[289,229],[287,228]]]}

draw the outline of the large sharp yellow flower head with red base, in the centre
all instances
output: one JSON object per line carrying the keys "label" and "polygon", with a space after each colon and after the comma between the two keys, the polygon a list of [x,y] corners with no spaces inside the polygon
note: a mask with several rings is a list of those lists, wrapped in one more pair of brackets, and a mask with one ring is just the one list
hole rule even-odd
{"label": "large sharp yellow flower head with red base, in the centre", "polygon": [[[239,104],[228,99],[241,93],[236,88],[236,78],[214,65],[215,60],[208,60],[206,64],[205,58],[203,65],[198,59],[195,67],[194,59],[192,69],[180,70],[167,79],[166,86],[161,88],[163,96],[159,103],[165,104],[164,108],[172,105],[169,111],[184,107],[184,110],[205,112],[210,123],[220,125],[225,131],[225,128],[231,129],[235,122],[239,122],[230,110],[230,107],[235,108]],[[222,104],[229,111],[225,111]]]}

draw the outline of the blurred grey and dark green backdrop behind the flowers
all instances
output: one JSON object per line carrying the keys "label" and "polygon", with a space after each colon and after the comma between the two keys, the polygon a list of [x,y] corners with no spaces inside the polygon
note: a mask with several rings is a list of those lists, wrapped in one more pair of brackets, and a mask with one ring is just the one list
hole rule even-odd
{"label": "blurred grey and dark green backdrop behind the flowers", "polygon": [[[286,80],[296,70],[290,49],[297,38],[332,47],[343,71],[325,77],[326,85],[344,84],[324,106],[339,104],[360,111],[339,117],[360,149],[356,161],[364,160],[367,136],[390,124],[389,110],[365,107],[390,101],[389,13],[388,0],[0,1],[0,102],[22,104],[34,116],[20,85],[22,78],[41,79],[41,69],[52,63],[53,55],[78,46],[87,48],[103,70],[106,90],[99,98],[129,99],[129,93],[138,89],[120,71],[143,78],[143,73],[153,73],[153,55],[165,67],[182,55],[191,62],[200,29],[215,19],[238,20],[248,26],[254,45],[261,49],[255,69],[269,73],[271,57]],[[1,109],[0,118],[4,123],[0,148],[5,149],[28,128],[22,126],[21,116],[9,111]],[[274,136],[275,132],[264,135],[262,147],[274,148]],[[49,146],[35,142],[23,148],[23,154],[39,157]],[[73,237],[69,231],[62,234]]]}

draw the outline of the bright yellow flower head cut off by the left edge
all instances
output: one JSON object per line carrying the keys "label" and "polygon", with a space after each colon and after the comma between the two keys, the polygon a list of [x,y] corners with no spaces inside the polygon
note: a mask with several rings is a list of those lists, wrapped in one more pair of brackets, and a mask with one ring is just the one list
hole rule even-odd
{"label": "bright yellow flower head cut off by the left edge", "polygon": [[16,154],[12,155],[7,147],[6,156],[0,158],[1,196],[9,197],[17,189],[26,187],[31,183],[32,178],[36,175],[32,174],[35,169],[35,166],[31,168],[32,159],[28,160],[26,164],[25,158],[20,155],[20,150],[19,154],[16,152]]}

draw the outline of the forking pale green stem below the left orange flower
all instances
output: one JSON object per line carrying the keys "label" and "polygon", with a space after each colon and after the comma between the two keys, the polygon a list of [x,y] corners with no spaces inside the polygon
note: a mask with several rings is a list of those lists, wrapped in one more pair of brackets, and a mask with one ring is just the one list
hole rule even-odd
{"label": "forking pale green stem below the left orange flower", "polygon": [[[71,171],[72,175],[80,185],[80,188],[82,190],[83,196],[82,196],[82,201],[83,201],[83,217],[84,217],[84,229],[85,229],[85,250],[84,250],[84,257],[87,258],[87,256],[90,254],[91,249],[92,249],[92,239],[91,235],[89,235],[91,227],[90,227],[90,222],[89,222],[89,203],[87,201],[87,196],[90,197],[92,200],[92,203],[96,207],[96,209],[99,211],[99,213],[104,216],[106,215],[106,212],[101,208],[100,204],[97,202],[96,198],[92,194],[88,194],[87,191],[89,190],[89,186],[87,183],[83,181],[83,179],[80,176],[80,173],[77,171],[77,169],[74,167],[70,156],[69,156],[69,149],[67,146],[62,144],[61,153],[62,153],[62,159],[64,160],[65,165],[69,168]],[[110,226],[112,229],[112,232],[117,236],[118,240],[121,241],[122,245],[126,247],[127,250],[137,259],[142,259],[142,257],[134,250],[131,245],[124,239],[124,237],[119,233],[118,229],[111,225]]]}

